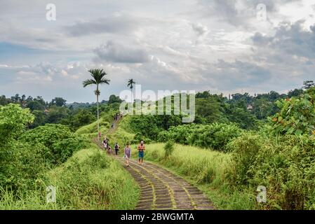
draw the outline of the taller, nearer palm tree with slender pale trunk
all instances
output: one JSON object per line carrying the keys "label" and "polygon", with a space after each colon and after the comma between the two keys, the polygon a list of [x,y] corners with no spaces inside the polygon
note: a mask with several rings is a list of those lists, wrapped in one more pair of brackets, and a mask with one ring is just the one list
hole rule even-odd
{"label": "taller, nearer palm tree with slender pale trunk", "polygon": [[[96,90],[94,91],[96,95],[96,102],[98,102],[98,97],[100,97],[99,85],[107,84],[109,85],[110,80],[105,78],[107,73],[103,69],[91,69],[88,71],[92,78],[83,81],[83,87],[88,85],[96,85]],[[100,140],[100,112],[98,110],[98,139]]]}

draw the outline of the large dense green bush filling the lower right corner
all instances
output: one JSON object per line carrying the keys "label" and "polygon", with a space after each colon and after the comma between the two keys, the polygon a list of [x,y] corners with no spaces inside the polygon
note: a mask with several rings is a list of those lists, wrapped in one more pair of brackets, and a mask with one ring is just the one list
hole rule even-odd
{"label": "large dense green bush filling the lower right corner", "polygon": [[232,141],[233,166],[229,181],[267,188],[264,209],[315,209],[315,138],[246,134]]}

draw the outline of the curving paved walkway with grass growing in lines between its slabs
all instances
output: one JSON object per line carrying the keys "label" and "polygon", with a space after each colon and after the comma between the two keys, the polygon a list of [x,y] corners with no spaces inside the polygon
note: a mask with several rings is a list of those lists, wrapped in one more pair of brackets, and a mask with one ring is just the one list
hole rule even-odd
{"label": "curving paved walkway with grass growing in lines between its slabs", "polygon": [[[121,163],[123,158],[116,156]],[[152,163],[138,165],[136,160],[130,160],[130,167],[123,165],[140,186],[140,200],[135,209],[185,209],[213,210],[212,203],[206,195],[187,181],[158,167]]]}

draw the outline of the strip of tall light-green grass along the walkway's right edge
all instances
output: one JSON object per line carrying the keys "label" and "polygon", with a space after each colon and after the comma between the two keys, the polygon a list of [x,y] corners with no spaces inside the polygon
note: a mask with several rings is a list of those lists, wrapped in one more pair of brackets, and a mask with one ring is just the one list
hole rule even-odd
{"label": "strip of tall light-green grass along the walkway's right edge", "polygon": [[145,160],[163,165],[199,186],[217,209],[255,209],[253,193],[240,191],[227,182],[225,174],[230,169],[231,154],[175,144],[172,155],[166,157],[164,146],[147,145]]}

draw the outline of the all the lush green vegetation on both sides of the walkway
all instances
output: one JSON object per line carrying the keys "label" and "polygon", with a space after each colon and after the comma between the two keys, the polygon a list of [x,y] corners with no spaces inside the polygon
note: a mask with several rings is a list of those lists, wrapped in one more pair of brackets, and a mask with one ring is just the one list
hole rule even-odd
{"label": "all the lush green vegetation on both sides of the walkway", "polygon": [[[312,81],[287,94],[199,92],[194,123],[142,115],[114,127],[122,101],[112,94],[99,102],[109,80],[101,69],[90,73],[83,86],[96,85],[96,103],[0,97],[0,209],[133,209],[138,186],[98,150],[100,132],[110,144],[144,140],[145,160],[198,186],[217,209],[315,209]],[[48,186],[58,187],[56,203],[46,202]],[[256,200],[259,186],[265,203]]]}

